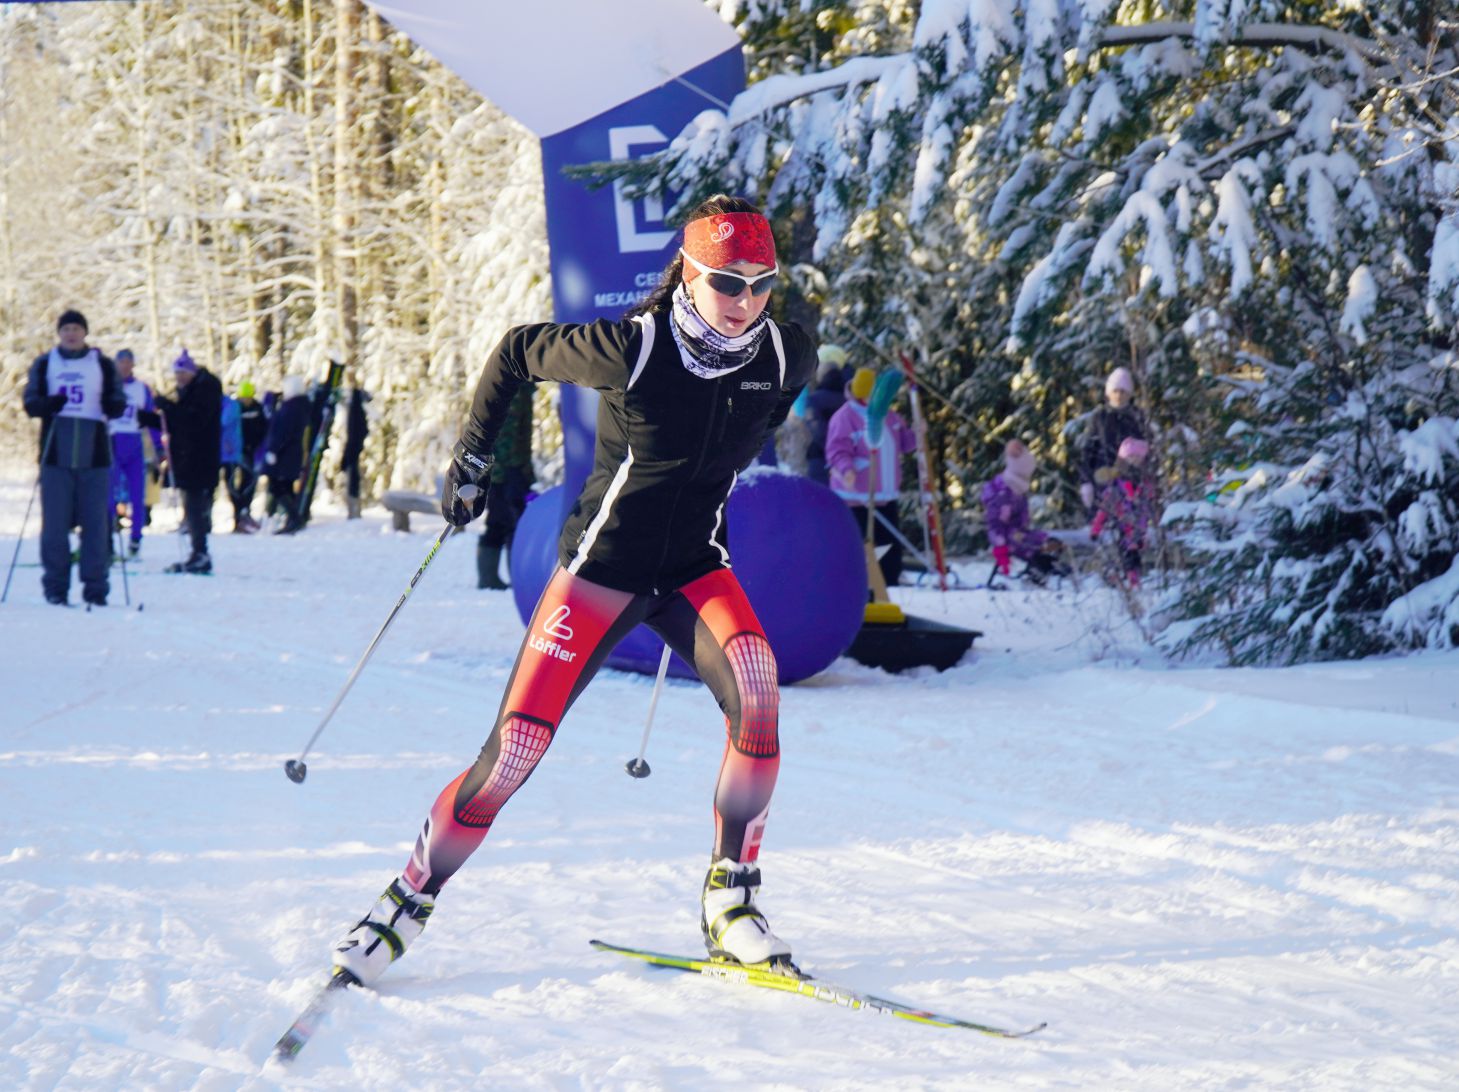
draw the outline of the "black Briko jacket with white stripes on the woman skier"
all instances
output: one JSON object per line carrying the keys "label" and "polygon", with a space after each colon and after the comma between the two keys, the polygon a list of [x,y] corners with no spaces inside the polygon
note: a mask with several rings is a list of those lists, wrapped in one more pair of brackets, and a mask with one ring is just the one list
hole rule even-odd
{"label": "black Briko jacket with white stripes on the woman skier", "polygon": [[680,359],[671,321],[659,312],[508,330],[461,434],[461,447],[484,458],[522,382],[597,390],[594,467],[557,556],[572,574],[636,594],[730,568],[725,498],[816,372],[810,336],[772,321],[744,366],[700,378]]}

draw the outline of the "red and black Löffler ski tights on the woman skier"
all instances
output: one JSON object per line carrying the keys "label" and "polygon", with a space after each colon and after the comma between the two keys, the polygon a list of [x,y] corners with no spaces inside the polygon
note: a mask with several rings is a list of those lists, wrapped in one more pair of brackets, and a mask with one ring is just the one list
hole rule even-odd
{"label": "red and black L\u00f6ffler ski tights on the woman skier", "polygon": [[613,647],[643,623],[694,666],[725,714],[715,860],[751,861],[781,768],[775,655],[740,581],[716,569],[664,596],[635,596],[559,568],[537,603],[476,764],[430,807],[406,882],[435,893],[486,838]]}

